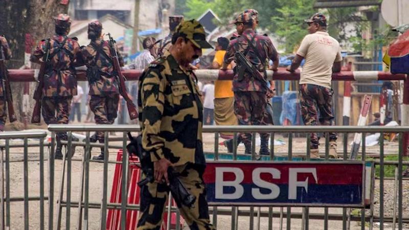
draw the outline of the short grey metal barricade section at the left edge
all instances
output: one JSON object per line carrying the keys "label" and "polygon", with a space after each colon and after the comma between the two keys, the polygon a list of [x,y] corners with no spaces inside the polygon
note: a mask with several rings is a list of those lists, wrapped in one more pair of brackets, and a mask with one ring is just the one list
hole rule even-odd
{"label": "short grey metal barricade section at the left edge", "polygon": [[[47,136],[45,131],[36,131],[36,132],[2,132],[0,133],[0,139],[5,140],[5,144],[0,146],[2,149],[2,154],[0,156],[0,171],[2,173],[0,177],[0,199],[1,199],[1,206],[0,206],[0,224],[1,229],[29,229],[30,220],[39,220],[39,229],[44,229],[46,226],[46,221],[44,217],[44,209],[46,206],[44,205],[44,201],[48,200],[48,214],[49,219],[49,229],[52,229],[52,215],[53,215],[53,176],[49,174],[49,190],[48,195],[44,195],[44,179],[46,176],[44,175],[44,139]],[[14,145],[10,144],[10,140],[21,139],[23,140],[24,144]],[[29,144],[29,139],[38,139],[38,144]],[[30,148],[39,147],[39,158],[38,159],[29,159],[29,151]],[[22,160],[11,160],[10,158],[10,148],[23,148],[23,156]],[[50,154],[51,155],[51,154]],[[39,165],[39,194],[29,194],[29,162],[38,162]],[[11,185],[13,181],[15,182],[20,177],[16,178],[13,171],[16,167],[10,168],[10,164],[18,164],[23,162],[23,196],[16,196],[17,191],[11,191]],[[52,164],[49,162],[49,173],[53,172]],[[50,170],[51,169],[51,170]],[[11,172],[12,171],[12,172]],[[37,181],[36,181],[37,182]],[[19,185],[21,186],[21,185]],[[29,203],[30,201],[39,201],[39,208],[36,210],[36,213],[29,213]],[[23,209],[24,214],[19,214],[20,217],[14,216],[12,219],[11,217],[11,203],[12,202],[24,202]],[[23,217],[24,221],[21,222],[21,216]],[[14,222],[12,222],[14,220]]]}

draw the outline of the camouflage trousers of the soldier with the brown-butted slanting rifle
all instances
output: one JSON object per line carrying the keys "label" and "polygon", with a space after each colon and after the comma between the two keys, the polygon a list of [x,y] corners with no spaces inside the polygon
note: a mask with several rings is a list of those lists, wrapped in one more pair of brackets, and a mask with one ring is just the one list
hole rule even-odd
{"label": "camouflage trousers of the soldier with the brown-butted slanting rifle", "polygon": [[[113,124],[118,116],[119,94],[91,95],[89,107],[96,124]],[[96,132],[98,141],[104,141],[104,132]]]}

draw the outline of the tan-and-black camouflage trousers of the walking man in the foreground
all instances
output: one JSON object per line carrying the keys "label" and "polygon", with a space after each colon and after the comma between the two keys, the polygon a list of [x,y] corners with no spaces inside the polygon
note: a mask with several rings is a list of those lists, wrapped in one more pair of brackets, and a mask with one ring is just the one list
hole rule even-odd
{"label": "tan-and-black camouflage trousers of the walking man in the foreground", "polygon": [[[205,166],[186,164],[173,168],[176,172],[180,173],[179,179],[186,189],[196,197],[192,207],[176,202],[181,216],[185,219],[191,230],[215,229],[210,223],[209,207],[206,200],[206,185],[203,182]],[[142,186],[138,230],[161,229],[168,195],[169,187],[165,183],[152,182]]]}

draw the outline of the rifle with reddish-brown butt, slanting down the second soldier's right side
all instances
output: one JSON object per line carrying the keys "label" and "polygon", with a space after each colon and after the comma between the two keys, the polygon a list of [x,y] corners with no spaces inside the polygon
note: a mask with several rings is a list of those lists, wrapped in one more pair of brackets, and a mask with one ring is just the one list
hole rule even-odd
{"label": "rifle with reddish-brown butt, slanting down the second soldier's right side", "polygon": [[129,118],[133,120],[135,118],[138,118],[138,111],[137,111],[135,104],[133,104],[132,100],[129,98],[128,92],[126,91],[126,86],[125,86],[126,79],[121,72],[121,66],[119,64],[119,59],[118,59],[118,52],[115,49],[116,41],[112,39],[111,34],[108,33],[108,36],[109,36],[109,48],[111,51],[112,61],[113,61],[113,70],[116,71],[118,74],[117,77],[119,80],[119,83],[118,83],[119,93],[126,101],[126,107],[128,107]]}

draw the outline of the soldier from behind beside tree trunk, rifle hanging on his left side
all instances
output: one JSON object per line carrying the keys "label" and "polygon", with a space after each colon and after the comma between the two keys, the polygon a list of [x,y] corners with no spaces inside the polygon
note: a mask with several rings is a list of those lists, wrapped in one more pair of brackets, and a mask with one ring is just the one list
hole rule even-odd
{"label": "soldier from behind beside tree trunk, rifle hanging on his left side", "polygon": [[[70,16],[59,14],[54,19],[56,34],[50,39],[50,56],[42,91],[42,117],[46,124],[68,124],[71,100],[77,95],[74,59],[79,52],[79,45],[75,38],[67,37],[71,26]],[[47,41],[41,40],[30,60],[42,63],[46,50]],[[62,158],[61,140],[67,140],[66,132],[57,133],[56,159]],[[73,138],[73,141],[78,139]]]}

